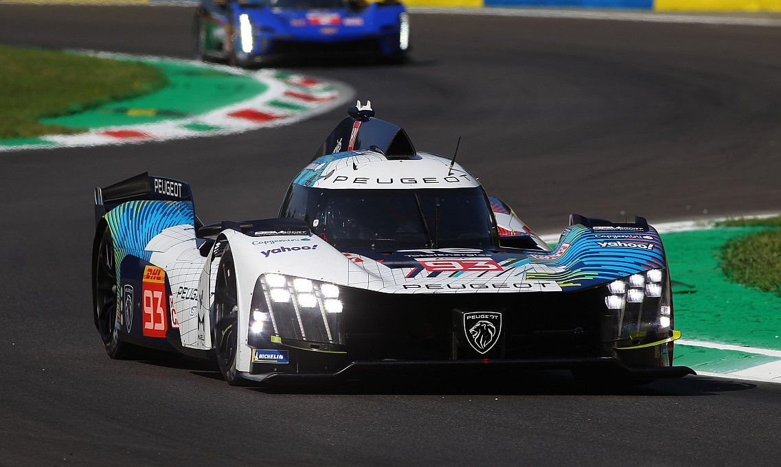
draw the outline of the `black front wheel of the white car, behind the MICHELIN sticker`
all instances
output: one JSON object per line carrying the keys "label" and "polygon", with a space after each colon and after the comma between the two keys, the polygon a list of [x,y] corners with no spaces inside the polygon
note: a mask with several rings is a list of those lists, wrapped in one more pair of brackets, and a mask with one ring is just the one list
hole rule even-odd
{"label": "black front wheel of the white car, behind the MICHELIN sticker", "polygon": [[230,249],[223,254],[217,270],[214,292],[214,344],[219,371],[231,386],[247,383],[236,370],[238,349],[238,298],[236,269]]}

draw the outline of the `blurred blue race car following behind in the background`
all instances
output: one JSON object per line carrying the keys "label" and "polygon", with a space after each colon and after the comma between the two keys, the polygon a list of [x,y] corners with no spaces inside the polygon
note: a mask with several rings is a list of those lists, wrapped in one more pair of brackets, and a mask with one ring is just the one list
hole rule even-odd
{"label": "blurred blue race car following behind in the background", "polygon": [[397,0],[200,0],[194,34],[200,59],[238,66],[291,56],[403,62],[409,17]]}

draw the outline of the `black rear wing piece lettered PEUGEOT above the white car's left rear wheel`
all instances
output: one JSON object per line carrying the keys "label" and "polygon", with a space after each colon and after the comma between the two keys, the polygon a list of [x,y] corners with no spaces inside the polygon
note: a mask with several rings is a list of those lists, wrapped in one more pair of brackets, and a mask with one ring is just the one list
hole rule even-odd
{"label": "black rear wing piece lettered PEUGEOT above the white car's left rear wheel", "polygon": [[127,180],[95,188],[95,224],[106,212],[127,201],[193,201],[190,184],[182,180],[139,173]]}

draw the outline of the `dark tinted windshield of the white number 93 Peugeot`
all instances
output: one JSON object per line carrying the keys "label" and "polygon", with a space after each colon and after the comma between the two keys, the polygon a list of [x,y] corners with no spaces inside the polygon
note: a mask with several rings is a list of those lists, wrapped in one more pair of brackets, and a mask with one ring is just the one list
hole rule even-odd
{"label": "dark tinted windshield of the white number 93 Peugeot", "polygon": [[480,187],[324,190],[293,185],[281,216],[304,220],[341,250],[495,248],[490,205]]}

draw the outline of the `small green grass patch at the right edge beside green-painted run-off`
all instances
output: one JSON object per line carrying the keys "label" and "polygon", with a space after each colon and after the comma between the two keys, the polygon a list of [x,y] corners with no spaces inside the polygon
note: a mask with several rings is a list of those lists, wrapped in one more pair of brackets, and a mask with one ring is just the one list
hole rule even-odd
{"label": "small green grass patch at the right edge beside green-painted run-off", "polygon": [[730,219],[719,225],[766,227],[727,241],[719,266],[730,280],[781,296],[781,216]]}

